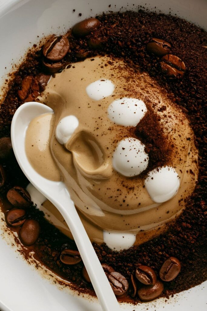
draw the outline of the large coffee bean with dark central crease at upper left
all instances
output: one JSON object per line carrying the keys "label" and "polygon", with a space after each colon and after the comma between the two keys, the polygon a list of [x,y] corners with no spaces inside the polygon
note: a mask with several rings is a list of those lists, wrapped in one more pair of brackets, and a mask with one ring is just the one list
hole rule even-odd
{"label": "large coffee bean with dark central crease at upper left", "polygon": [[43,46],[43,55],[51,60],[58,62],[65,57],[69,50],[69,41],[65,36],[52,37]]}

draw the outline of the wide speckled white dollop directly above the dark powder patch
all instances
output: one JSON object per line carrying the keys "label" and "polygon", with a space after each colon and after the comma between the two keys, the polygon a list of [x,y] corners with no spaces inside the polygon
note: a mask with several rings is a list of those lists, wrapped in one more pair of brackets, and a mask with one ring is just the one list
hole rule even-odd
{"label": "wide speckled white dollop directly above the dark powder patch", "polygon": [[130,97],[116,99],[108,107],[109,119],[124,126],[136,126],[146,114],[147,108],[142,100]]}

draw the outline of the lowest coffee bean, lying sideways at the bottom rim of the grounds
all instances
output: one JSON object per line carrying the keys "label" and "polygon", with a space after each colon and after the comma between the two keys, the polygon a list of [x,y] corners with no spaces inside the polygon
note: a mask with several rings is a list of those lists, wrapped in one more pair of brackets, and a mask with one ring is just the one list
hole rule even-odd
{"label": "lowest coffee bean, lying sideways at the bottom rim of the grounds", "polygon": [[145,285],[137,290],[137,294],[142,301],[150,301],[159,297],[164,290],[163,283],[157,281],[154,285]]}

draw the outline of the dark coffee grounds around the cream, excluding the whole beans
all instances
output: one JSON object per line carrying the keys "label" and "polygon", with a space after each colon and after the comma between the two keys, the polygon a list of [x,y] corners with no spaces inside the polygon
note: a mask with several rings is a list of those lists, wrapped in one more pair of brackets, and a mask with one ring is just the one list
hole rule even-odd
{"label": "dark coffee grounds around the cream, excluding the whole beans", "polygon": [[[161,86],[168,91],[169,97],[188,115],[195,132],[195,143],[199,149],[199,180],[196,189],[186,202],[186,209],[176,222],[169,226],[165,234],[138,247],[123,252],[113,252],[106,245],[94,244],[102,263],[112,266],[129,281],[129,291],[123,299],[134,294],[131,276],[139,264],[152,267],[157,277],[163,262],[169,256],[181,261],[181,272],[170,282],[164,282],[163,296],[186,290],[206,280],[206,77],[207,34],[204,30],[177,17],[157,15],[151,12],[125,12],[103,14],[97,17],[101,26],[84,38],[69,33],[70,50],[62,60],[63,64],[80,60],[80,55],[95,56],[98,53],[113,54],[125,58],[128,63],[149,72]],[[161,58],[149,55],[146,44],[152,38],[160,38],[171,44],[171,53],[181,58],[186,65],[183,79],[171,79],[161,71]],[[78,58],[79,57],[79,58]],[[84,57],[84,56],[83,56]],[[23,103],[18,96],[22,79],[43,73],[41,51],[29,52],[27,59],[15,73],[9,91],[0,109],[0,137],[10,135],[10,124],[15,110]],[[39,82],[41,86],[41,82]],[[142,124],[141,124],[142,126]],[[145,125],[137,136],[144,139]],[[140,134],[141,133],[141,134]],[[152,133],[152,135],[154,135]],[[161,135],[161,133],[160,133]],[[159,142],[159,137],[157,137]],[[150,148],[150,146],[148,146]],[[170,152],[166,146],[164,152]],[[161,157],[161,155],[160,155]],[[162,157],[155,159],[162,163]],[[11,157],[2,161],[7,174],[7,182],[1,188],[2,196],[14,185],[25,187],[27,181]],[[192,172],[189,171],[189,174]],[[5,204],[4,212],[8,209]],[[44,219],[43,213],[30,207],[26,217],[38,220],[41,226],[37,242],[29,247],[35,257],[52,271],[74,282],[79,290],[91,290],[92,285],[82,276],[83,263],[68,266],[60,261],[61,251],[65,248],[76,250],[74,241],[68,239]],[[12,229],[14,229],[12,227]],[[17,229],[18,231],[18,229]],[[140,283],[135,278],[138,288]],[[134,303],[139,301],[135,295]]]}

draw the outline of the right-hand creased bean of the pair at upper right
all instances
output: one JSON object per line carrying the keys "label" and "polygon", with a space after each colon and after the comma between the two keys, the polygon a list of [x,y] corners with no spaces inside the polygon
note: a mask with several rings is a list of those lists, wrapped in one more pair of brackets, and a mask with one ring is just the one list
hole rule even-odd
{"label": "right-hand creased bean of the pair at upper right", "polygon": [[161,70],[172,78],[182,78],[186,66],[184,62],[175,55],[165,55],[162,57],[162,62],[160,62]]}

